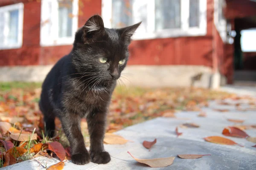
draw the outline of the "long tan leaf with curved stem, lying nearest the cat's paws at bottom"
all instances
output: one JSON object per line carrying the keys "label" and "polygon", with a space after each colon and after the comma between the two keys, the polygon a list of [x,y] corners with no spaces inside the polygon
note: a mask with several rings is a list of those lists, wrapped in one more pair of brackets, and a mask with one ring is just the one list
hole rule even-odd
{"label": "long tan leaf with curved stem, lying nearest the cat's paws at bottom", "polygon": [[[131,155],[130,152],[128,153]],[[175,159],[175,156],[168,157],[168,158],[155,158],[155,159],[138,159],[132,155],[131,157],[133,157],[133,159],[135,159],[136,161],[142,164],[147,164],[150,167],[167,167],[171,165]]]}

